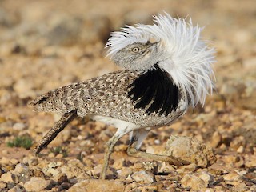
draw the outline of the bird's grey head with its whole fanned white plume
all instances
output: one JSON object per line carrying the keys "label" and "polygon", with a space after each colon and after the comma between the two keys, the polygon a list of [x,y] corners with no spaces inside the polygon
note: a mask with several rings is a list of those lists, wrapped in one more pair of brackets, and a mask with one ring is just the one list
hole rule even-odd
{"label": "bird's grey head with its whole fanned white plume", "polygon": [[147,71],[158,64],[186,93],[187,104],[204,104],[214,87],[214,49],[200,38],[201,31],[191,18],[186,22],[158,14],[153,25],[126,26],[112,33],[106,43],[107,55],[126,70]]}

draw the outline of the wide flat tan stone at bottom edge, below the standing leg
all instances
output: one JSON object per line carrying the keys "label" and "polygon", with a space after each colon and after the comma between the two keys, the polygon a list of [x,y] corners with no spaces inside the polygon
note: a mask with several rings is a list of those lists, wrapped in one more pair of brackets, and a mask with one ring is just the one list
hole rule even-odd
{"label": "wide flat tan stone at bottom edge, below the standing leg", "polygon": [[115,192],[124,191],[123,182],[117,180],[100,180],[100,179],[86,179],[82,182],[71,186],[68,192],[87,191],[87,192]]}

